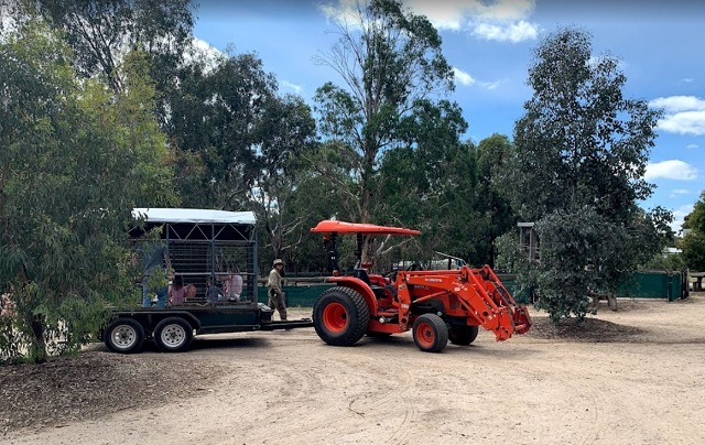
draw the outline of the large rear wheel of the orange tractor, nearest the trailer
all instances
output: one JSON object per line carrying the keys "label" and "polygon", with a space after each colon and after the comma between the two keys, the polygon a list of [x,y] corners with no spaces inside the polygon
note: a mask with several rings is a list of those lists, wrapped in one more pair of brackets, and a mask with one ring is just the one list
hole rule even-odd
{"label": "large rear wheel of the orange tractor, nearest the trailer", "polygon": [[313,306],[313,324],[318,337],[328,345],[351,346],[367,332],[370,310],[356,290],[330,287]]}

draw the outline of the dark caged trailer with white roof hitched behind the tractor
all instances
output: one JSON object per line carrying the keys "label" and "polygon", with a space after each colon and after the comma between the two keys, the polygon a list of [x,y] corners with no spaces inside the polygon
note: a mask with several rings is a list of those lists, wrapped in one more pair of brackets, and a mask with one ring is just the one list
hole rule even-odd
{"label": "dark caged trailer with white roof hitched behind the tractor", "polygon": [[[141,306],[109,308],[109,322],[100,333],[109,350],[134,354],[153,340],[161,351],[178,352],[202,334],[313,327],[311,318],[273,321],[274,311],[258,302],[253,213],[135,208],[132,214],[135,261],[143,262],[149,256],[145,246],[163,248],[170,269],[193,286],[194,294],[182,304],[170,304],[145,289]],[[206,297],[208,282],[225,295],[223,283],[234,274],[241,283],[237,299]],[[140,285],[144,282],[141,276]]]}

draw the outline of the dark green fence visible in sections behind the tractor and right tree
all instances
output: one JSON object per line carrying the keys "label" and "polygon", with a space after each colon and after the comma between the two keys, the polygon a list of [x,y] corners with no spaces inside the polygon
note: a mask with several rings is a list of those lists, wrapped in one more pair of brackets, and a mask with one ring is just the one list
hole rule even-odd
{"label": "dark green fence visible in sections behind the tractor and right tree", "polygon": [[[530,303],[528,292],[518,293],[516,275],[500,274],[499,279],[507,290],[514,296],[514,300],[517,300],[518,303]],[[313,307],[318,295],[332,285],[333,284],[285,285],[284,292],[286,293],[286,305],[291,307]],[[685,297],[686,295],[684,292],[682,273],[650,271],[634,273],[633,281],[622,285],[617,296],[674,301]],[[258,287],[257,297],[258,301],[267,304],[267,287],[260,285]]]}

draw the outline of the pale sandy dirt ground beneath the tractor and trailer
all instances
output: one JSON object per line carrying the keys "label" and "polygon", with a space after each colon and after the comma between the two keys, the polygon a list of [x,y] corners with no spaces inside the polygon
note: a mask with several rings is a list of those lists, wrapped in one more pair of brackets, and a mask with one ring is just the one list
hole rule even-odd
{"label": "pale sandy dirt ground beneath the tractor and trailer", "polygon": [[[294,317],[311,310],[291,310]],[[0,368],[3,444],[705,444],[705,294],[421,352],[410,333],[203,336]]]}

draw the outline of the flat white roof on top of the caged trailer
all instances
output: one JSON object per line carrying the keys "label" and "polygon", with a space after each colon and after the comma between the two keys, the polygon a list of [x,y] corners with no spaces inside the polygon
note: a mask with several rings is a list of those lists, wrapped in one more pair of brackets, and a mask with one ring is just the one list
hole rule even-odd
{"label": "flat white roof on top of the caged trailer", "polygon": [[254,225],[252,211],[226,211],[203,208],[155,208],[132,209],[133,218],[144,218],[148,223],[191,224],[242,224]]}

